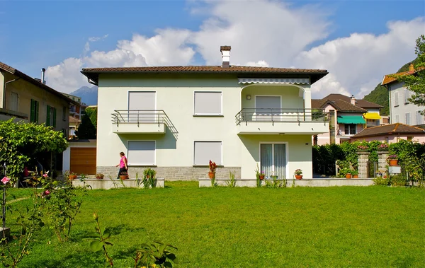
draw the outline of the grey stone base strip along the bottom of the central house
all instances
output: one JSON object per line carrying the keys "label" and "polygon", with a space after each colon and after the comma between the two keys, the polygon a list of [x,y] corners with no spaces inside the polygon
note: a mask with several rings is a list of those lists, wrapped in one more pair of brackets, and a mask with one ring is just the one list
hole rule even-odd
{"label": "grey stone base strip along the bottom of the central house", "polygon": [[[143,176],[143,170],[147,167],[129,167],[128,175],[130,178],[135,178],[136,173],[139,177]],[[156,167],[152,168],[157,171],[156,177],[164,177],[165,180],[198,180],[200,177],[208,177],[208,167]],[[115,167],[96,167],[96,173],[103,173],[106,178],[111,176],[116,178],[119,168]],[[225,167],[217,168],[215,170],[215,177],[217,179],[228,179],[229,171],[234,172],[234,177],[239,179],[241,177],[240,167]]]}

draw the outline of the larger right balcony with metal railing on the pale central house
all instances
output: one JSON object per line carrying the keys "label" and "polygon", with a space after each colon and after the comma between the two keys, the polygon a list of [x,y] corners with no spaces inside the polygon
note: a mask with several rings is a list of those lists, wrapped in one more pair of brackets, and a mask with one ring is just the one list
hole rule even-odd
{"label": "larger right balcony with metal railing on the pale central house", "polygon": [[238,134],[322,134],[329,112],[322,109],[244,108],[236,115]]}

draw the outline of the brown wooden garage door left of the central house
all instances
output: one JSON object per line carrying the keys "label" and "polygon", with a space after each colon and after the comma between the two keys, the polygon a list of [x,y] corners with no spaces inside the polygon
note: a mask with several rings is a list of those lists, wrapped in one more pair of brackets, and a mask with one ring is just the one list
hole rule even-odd
{"label": "brown wooden garage door left of the central house", "polygon": [[96,148],[71,148],[70,171],[80,174],[96,174]]}

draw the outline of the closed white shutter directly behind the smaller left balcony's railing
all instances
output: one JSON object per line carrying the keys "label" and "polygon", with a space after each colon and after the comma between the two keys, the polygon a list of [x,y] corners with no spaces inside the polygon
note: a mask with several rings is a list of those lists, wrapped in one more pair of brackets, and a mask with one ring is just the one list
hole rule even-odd
{"label": "closed white shutter directly behind the smaller left balcony's railing", "polygon": [[156,93],[149,92],[129,92],[128,93],[128,122],[155,122]]}

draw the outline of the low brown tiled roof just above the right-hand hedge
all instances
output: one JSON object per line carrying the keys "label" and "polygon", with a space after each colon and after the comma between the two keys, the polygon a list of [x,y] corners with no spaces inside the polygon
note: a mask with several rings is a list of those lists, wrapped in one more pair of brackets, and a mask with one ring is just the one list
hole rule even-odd
{"label": "low brown tiled roof just above the right-hand hedge", "polygon": [[424,134],[425,129],[419,127],[408,126],[407,124],[386,124],[379,127],[368,127],[363,129],[358,134],[354,135],[353,138],[361,138],[365,136],[381,136],[381,135],[394,135],[394,134]]}

